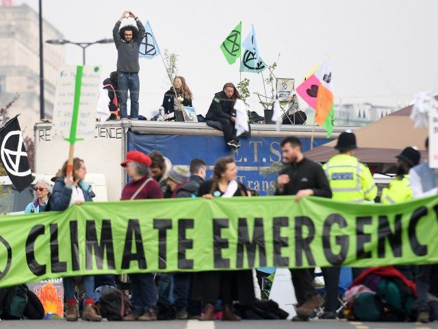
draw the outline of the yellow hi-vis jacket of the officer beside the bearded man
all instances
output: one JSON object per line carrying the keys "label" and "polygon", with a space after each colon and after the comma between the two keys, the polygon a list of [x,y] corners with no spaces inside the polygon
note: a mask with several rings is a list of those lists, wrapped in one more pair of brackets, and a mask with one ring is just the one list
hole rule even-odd
{"label": "yellow hi-vis jacket of the officer beside the bearded man", "polygon": [[376,197],[377,186],[370,169],[354,156],[338,154],[322,168],[330,182],[332,199],[360,203]]}

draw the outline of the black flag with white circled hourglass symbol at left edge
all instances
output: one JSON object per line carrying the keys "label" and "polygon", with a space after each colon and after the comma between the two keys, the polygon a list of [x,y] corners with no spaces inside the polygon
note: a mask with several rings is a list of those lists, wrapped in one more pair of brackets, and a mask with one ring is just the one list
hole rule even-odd
{"label": "black flag with white circled hourglass symbol at left edge", "polygon": [[17,117],[0,129],[0,160],[18,192],[31,184],[33,177]]}

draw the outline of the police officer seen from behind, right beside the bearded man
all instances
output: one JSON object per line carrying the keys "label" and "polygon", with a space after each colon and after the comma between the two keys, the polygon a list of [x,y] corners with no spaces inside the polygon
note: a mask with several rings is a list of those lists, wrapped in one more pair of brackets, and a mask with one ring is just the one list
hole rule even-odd
{"label": "police officer seen from behind, right beside the bearded man", "polygon": [[[332,199],[355,203],[374,200],[377,186],[370,169],[353,156],[354,150],[357,149],[355,134],[350,130],[342,132],[337,139],[335,149],[339,154],[322,166],[330,182]],[[326,284],[325,313],[322,315],[324,319],[337,317],[337,287],[340,271],[340,267],[322,268]],[[353,269],[353,276],[359,276],[360,272],[361,269]]]}

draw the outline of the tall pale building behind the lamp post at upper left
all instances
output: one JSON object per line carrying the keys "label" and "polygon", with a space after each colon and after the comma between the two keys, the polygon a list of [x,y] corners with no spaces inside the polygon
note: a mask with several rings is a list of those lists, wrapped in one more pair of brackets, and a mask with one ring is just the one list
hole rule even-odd
{"label": "tall pale building behind the lamp post at upper left", "polygon": [[[28,5],[3,5],[0,10],[0,106],[18,93],[20,98],[8,111],[16,114],[27,136],[34,135],[40,119],[40,52],[38,12]],[[43,40],[63,38],[61,32],[43,20]],[[51,118],[55,101],[57,70],[64,64],[64,47],[44,45],[44,108]]]}

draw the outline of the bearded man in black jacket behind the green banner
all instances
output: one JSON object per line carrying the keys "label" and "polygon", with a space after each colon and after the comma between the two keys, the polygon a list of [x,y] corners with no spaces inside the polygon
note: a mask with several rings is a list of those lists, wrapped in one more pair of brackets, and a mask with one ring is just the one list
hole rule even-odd
{"label": "bearded man in black jacket behind the green banner", "polygon": [[[320,164],[302,155],[301,142],[296,137],[287,137],[280,143],[285,167],[277,178],[276,195],[296,195],[295,201],[302,197],[315,195],[331,197],[329,181]],[[292,321],[307,321],[313,308],[322,306],[324,299],[313,287],[313,269],[290,269],[298,302],[297,315]]]}

